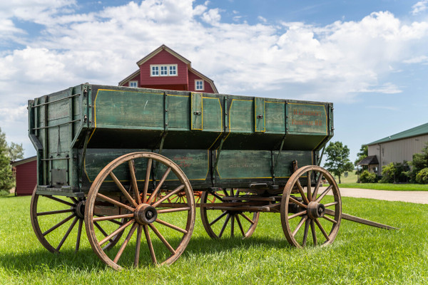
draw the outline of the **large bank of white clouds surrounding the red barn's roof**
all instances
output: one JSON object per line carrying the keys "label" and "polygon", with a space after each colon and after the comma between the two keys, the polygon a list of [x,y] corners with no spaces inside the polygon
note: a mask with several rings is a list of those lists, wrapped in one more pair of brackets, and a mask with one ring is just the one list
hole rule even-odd
{"label": "large bank of white clouds surrounding the red barn's roof", "polygon": [[[5,3],[0,37],[25,37],[13,24],[17,18],[44,27],[37,38],[26,38],[25,48],[0,54],[5,114],[30,98],[82,82],[116,85],[163,43],[213,78],[220,92],[334,102],[360,93],[399,93],[384,78],[402,63],[428,58],[428,23],[403,22],[389,12],[312,26],[261,18],[258,24],[230,24],[212,8],[215,2],[193,6],[192,0],[134,1],[88,14],[64,10],[76,6],[71,0],[56,6],[48,0]],[[1,117],[0,125],[5,122]]]}

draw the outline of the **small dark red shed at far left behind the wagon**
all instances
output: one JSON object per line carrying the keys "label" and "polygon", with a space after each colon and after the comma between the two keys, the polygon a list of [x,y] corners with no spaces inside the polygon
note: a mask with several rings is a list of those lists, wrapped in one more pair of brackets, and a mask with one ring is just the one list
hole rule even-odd
{"label": "small dark red shed at far left behind the wagon", "polygon": [[15,168],[17,196],[33,194],[37,182],[37,157],[29,157],[12,163]]}

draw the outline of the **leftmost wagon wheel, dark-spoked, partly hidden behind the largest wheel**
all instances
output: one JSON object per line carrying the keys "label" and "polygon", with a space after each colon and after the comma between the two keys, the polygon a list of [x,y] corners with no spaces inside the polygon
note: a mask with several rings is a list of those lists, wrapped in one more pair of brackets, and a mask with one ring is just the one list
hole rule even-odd
{"label": "leftmost wagon wheel, dark-spoked, partly hidden behind the largest wheel", "polygon": [[[49,252],[58,253],[68,240],[73,240],[74,248],[78,251],[85,202],[86,198],[39,195],[34,189],[30,204],[31,225],[37,239]],[[74,227],[77,232],[73,231]],[[103,248],[111,249],[120,238],[121,234],[112,237]]]}

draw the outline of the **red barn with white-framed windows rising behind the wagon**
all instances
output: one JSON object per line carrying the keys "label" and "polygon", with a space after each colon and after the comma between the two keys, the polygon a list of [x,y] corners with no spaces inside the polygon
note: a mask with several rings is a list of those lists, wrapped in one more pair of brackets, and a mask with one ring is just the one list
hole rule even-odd
{"label": "red barn with white-framed windows rising behind the wagon", "polygon": [[162,45],[137,62],[138,71],[119,86],[218,93],[214,81],[195,71],[190,61]]}

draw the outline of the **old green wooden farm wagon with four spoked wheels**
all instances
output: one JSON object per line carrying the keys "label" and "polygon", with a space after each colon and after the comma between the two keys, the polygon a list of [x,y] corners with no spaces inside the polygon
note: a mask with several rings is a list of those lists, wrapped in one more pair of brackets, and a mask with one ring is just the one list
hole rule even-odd
{"label": "old green wooden farm wagon with four spoked wheels", "polygon": [[344,216],[319,152],[333,130],[332,103],[90,84],[44,95],[29,101],[31,223],[51,252],[78,250],[84,224],[114,269],[173,263],[196,207],[214,239],[279,212],[293,246],[330,244]]}

